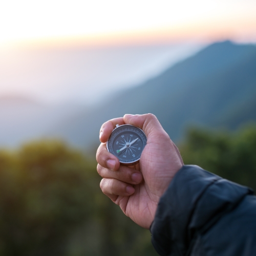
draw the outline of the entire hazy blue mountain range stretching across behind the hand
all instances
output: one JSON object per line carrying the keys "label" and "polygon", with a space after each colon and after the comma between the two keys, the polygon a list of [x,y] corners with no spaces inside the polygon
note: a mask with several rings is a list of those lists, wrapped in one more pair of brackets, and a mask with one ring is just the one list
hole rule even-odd
{"label": "entire hazy blue mountain range stretching across behind the hand", "polygon": [[[129,102],[125,99],[131,99]],[[0,145],[60,138],[87,148],[99,144],[100,126],[124,114],[153,113],[175,142],[186,127],[236,129],[256,120],[256,47],[216,42],[104,104],[46,106],[28,98],[0,98]]]}

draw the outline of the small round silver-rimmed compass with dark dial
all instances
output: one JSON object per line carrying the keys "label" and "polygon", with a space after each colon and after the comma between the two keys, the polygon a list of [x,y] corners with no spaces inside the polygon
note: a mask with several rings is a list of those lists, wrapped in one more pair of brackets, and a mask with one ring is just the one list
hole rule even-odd
{"label": "small round silver-rimmed compass with dark dial", "polygon": [[138,163],[145,145],[146,135],[141,129],[131,124],[117,124],[106,142],[108,151],[123,165]]}

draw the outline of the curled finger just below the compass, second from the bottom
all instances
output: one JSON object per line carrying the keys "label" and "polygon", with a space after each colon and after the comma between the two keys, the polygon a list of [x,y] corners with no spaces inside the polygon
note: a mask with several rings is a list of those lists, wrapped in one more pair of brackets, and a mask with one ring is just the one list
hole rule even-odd
{"label": "curled finger just below the compass, second from the bottom", "polygon": [[138,184],[143,179],[142,174],[138,170],[124,165],[120,165],[120,168],[114,171],[98,164],[97,171],[102,178],[116,179],[128,184]]}

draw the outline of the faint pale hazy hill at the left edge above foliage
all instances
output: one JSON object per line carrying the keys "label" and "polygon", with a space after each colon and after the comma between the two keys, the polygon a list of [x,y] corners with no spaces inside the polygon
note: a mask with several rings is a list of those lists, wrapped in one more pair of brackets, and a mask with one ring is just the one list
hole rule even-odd
{"label": "faint pale hazy hill at the left edge above foliage", "polygon": [[0,97],[0,145],[16,146],[46,137],[55,123],[78,113],[76,105],[45,105],[20,96]]}

